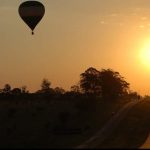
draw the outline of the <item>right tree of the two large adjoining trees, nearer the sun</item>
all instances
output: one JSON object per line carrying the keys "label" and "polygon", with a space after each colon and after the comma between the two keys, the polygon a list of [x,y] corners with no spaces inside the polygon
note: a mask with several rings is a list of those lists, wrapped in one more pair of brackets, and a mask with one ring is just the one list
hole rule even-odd
{"label": "right tree of the two large adjoining trees, nearer the sun", "polygon": [[102,69],[100,72],[102,97],[105,99],[118,98],[128,92],[129,83],[111,69]]}

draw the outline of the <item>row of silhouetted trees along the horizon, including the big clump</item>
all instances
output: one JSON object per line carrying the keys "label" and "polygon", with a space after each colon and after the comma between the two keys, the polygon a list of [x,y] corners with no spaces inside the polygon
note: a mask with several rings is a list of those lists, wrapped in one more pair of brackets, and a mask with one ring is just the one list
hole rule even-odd
{"label": "row of silhouetted trees along the horizon, including the big clump", "polygon": [[51,88],[51,82],[43,79],[41,88],[34,93],[30,93],[26,86],[12,88],[10,84],[5,84],[0,89],[0,99],[51,99],[51,98],[77,98],[81,96],[99,97],[101,99],[118,99],[124,96],[138,97],[137,92],[131,92],[129,83],[119,72],[112,69],[101,69],[100,71],[90,67],[80,74],[78,84],[71,86],[69,91],[61,87]]}

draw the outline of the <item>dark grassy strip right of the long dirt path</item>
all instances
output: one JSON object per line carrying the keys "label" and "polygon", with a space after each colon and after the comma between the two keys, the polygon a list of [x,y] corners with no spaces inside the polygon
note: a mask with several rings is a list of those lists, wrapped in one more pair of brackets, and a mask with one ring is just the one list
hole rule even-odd
{"label": "dark grassy strip right of the long dirt path", "polygon": [[141,101],[97,148],[139,148],[150,133],[150,100]]}

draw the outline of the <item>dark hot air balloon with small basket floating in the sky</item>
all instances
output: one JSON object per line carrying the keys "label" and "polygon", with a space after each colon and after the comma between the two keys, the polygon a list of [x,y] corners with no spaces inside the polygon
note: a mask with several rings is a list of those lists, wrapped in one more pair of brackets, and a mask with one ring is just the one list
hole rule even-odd
{"label": "dark hot air balloon with small basket floating in the sky", "polygon": [[36,25],[41,21],[45,14],[44,5],[38,1],[26,1],[19,6],[18,11],[20,17],[32,30],[33,35]]}

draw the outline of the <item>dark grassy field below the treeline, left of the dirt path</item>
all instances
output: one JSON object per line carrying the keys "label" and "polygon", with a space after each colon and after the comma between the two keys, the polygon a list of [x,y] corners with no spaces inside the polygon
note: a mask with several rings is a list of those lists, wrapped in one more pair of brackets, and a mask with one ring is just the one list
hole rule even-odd
{"label": "dark grassy field below the treeline, left of the dirt path", "polygon": [[[94,135],[128,101],[0,101],[0,148],[73,148]],[[60,130],[78,133],[59,133]],[[56,131],[56,132],[54,132]]]}

